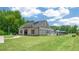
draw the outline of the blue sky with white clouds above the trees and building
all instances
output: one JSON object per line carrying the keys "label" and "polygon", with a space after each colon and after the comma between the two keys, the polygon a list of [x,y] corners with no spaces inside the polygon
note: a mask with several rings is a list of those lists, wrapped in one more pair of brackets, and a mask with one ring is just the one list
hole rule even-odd
{"label": "blue sky with white clouds above the trees and building", "polygon": [[28,20],[47,20],[49,25],[79,25],[79,7],[1,7],[0,10],[19,10]]}

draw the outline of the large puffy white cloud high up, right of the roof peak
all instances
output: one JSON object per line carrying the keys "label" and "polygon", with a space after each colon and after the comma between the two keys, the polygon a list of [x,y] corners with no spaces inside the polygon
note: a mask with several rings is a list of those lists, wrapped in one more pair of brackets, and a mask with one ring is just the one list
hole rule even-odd
{"label": "large puffy white cloud high up, right of the roof peak", "polygon": [[66,15],[68,15],[69,9],[65,7],[60,7],[58,10],[54,10],[52,8],[49,8],[47,11],[45,11],[43,14],[46,15],[47,17],[54,17],[54,19],[59,19],[62,18]]}

